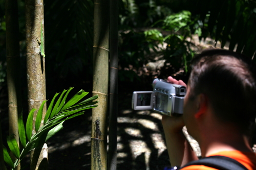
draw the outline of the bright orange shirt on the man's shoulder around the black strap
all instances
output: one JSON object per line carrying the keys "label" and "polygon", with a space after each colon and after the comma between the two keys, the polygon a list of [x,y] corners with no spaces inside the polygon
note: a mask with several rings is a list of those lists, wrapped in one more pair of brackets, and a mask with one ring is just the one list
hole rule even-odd
{"label": "bright orange shirt on the man's shoulder around the black strap", "polygon": [[[256,169],[256,154],[253,152],[241,152],[241,151],[223,151],[210,156],[226,156],[237,160],[243,164],[248,170]],[[204,165],[190,165],[182,168],[181,170],[216,170],[215,168]]]}

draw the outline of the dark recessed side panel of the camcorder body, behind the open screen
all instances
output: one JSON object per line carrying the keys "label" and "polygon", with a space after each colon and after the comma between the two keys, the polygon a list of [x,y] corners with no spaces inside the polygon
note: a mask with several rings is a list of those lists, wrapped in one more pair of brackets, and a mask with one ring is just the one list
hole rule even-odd
{"label": "dark recessed side panel of the camcorder body, behind the open screen", "polygon": [[156,110],[167,113],[167,105],[168,105],[168,95],[155,92],[156,96]]}

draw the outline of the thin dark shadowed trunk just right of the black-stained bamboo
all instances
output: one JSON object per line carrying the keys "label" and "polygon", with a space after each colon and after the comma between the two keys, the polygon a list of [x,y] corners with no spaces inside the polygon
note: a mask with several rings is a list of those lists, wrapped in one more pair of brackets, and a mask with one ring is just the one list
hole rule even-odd
{"label": "thin dark shadowed trunk just right of the black-stained bamboo", "polygon": [[116,170],[118,113],[118,0],[110,1],[110,121],[108,169]]}

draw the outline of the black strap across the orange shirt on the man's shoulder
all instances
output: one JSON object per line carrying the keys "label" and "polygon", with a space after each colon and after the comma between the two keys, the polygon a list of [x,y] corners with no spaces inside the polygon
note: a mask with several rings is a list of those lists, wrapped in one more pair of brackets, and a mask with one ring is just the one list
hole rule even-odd
{"label": "black strap across the orange shirt on the man's shoulder", "polygon": [[183,167],[190,165],[205,165],[220,170],[248,170],[240,162],[226,156],[209,156],[200,160],[191,161]]}

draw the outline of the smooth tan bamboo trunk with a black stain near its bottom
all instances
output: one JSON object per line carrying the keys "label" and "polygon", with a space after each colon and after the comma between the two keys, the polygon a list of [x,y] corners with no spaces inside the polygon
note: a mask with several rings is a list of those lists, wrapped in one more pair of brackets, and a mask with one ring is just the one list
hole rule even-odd
{"label": "smooth tan bamboo trunk with a black stain near its bottom", "polygon": [[109,81],[109,1],[94,2],[93,95],[99,105],[92,110],[91,169],[106,169],[106,117]]}

